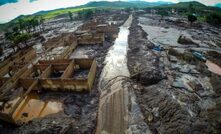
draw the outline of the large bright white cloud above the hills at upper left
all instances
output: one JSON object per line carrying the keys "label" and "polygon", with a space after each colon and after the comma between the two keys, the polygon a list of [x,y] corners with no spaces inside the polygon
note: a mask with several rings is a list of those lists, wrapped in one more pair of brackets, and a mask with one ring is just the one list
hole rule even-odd
{"label": "large bright white cloud above the hills at upper left", "polygon": [[19,15],[33,14],[41,10],[53,10],[57,8],[82,5],[90,0],[19,0],[17,3],[9,3],[0,6],[0,22],[8,22]]}

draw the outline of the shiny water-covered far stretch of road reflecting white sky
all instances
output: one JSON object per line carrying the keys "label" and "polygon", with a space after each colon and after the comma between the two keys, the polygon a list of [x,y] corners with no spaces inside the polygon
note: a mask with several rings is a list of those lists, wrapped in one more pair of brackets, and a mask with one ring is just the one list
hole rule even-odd
{"label": "shiny water-covered far stretch of road reflecting white sky", "polygon": [[101,75],[101,85],[113,77],[123,75],[129,76],[127,68],[127,48],[128,48],[128,35],[129,26],[131,25],[132,16],[120,27],[118,37],[114,45],[110,48],[108,55],[105,59],[105,67]]}

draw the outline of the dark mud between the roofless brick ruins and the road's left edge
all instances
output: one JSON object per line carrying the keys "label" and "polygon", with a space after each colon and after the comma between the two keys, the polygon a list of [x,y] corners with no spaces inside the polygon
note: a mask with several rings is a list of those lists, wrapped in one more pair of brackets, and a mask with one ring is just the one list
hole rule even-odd
{"label": "dark mud between the roofless brick ruins and the road's left edge", "polygon": [[[120,22],[118,25],[122,25],[127,16],[122,18],[122,22]],[[29,123],[21,124],[19,126],[0,121],[0,133],[95,133],[100,97],[100,93],[98,91],[98,81],[104,66],[103,62],[105,56],[109,50],[109,47],[112,46],[113,43],[114,40],[106,36],[103,46],[85,46],[85,49],[90,50],[86,52],[87,57],[95,58],[97,61],[97,73],[91,92],[73,93],[41,91],[39,96],[42,100],[56,100],[58,102],[62,102],[64,110],[44,118],[34,119]]]}

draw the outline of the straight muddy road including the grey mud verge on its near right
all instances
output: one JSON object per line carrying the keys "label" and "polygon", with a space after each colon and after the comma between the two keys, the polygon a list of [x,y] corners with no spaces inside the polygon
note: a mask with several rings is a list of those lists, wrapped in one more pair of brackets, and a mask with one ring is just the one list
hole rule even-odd
{"label": "straight muddy road including the grey mud verge on its near right", "polygon": [[127,81],[130,73],[127,66],[129,27],[132,15],[120,27],[118,38],[110,48],[100,77],[100,103],[96,133],[149,133],[143,115],[136,103],[136,96]]}

